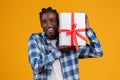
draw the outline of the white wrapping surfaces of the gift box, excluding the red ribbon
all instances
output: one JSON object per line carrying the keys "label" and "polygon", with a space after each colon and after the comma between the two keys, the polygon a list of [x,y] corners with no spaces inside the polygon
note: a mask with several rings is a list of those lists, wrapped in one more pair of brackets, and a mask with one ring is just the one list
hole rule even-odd
{"label": "white wrapping surfaces of the gift box, excluding the red ribbon", "polygon": [[[76,24],[75,30],[77,31],[78,29],[86,29],[85,28],[85,13],[70,13],[70,12],[65,12],[59,14],[59,21],[60,21],[60,30],[59,30],[59,46],[63,45],[70,45],[71,46],[71,39],[73,37],[70,35],[67,35],[67,32],[61,31],[61,30],[67,30],[67,31],[72,31],[73,30],[73,23]],[[84,31],[78,31],[78,34],[80,34],[82,37],[86,38],[86,33]],[[75,39],[75,38],[74,38]],[[76,40],[78,45],[85,45],[86,40],[78,37],[76,35]],[[76,46],[74,43],[73,46]]]}

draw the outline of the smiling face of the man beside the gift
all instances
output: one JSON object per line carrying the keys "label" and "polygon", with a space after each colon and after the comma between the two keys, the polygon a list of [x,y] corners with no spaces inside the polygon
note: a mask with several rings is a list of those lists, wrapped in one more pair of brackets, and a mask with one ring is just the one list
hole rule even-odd
{"label": "smiling face of the man beside the gift", "polygon": [[56,39],[58,36],[58,19],[52,12],[47,12],[41,16],[41,26],[49,39]]}

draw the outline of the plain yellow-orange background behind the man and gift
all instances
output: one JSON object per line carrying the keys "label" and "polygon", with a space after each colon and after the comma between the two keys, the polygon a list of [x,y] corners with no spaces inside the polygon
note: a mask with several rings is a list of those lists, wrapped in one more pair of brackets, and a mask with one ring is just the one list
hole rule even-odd
{"label": "plain yellow-orange background behind the man and gift", "polygon": [[48,6],[86,12],[102,44],[102,58],[79,60],[81,80],[120,80],[119,0],[1,0],[0,80],[32,80],[28,38],[42,31],[38,13]]}

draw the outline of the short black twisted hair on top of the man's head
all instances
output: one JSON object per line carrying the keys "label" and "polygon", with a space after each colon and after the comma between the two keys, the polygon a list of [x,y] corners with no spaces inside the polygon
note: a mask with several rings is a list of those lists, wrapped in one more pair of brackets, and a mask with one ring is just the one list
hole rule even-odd
{"label": "short black twisted hair on top of the man's head", "polygon": [[40,19],[41,19],[42,15],[47,13],[47,12],[54,13],[56,15],[56,17],[57,17],[57,20],[58,20],[58,17],[59,17],[58,12],[55,9],[52,9],[52,7],[42,8],[41,12],[39,13]]}

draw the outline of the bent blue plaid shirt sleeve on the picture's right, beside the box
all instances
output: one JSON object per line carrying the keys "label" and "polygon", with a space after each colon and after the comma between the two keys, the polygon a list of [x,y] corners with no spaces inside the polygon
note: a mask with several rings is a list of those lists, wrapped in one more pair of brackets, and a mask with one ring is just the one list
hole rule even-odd
{"label": "bent blue plaid shirt sleeve on the picture's right, beside the box", "polygon": [[87,30],[86,35],[90,41],[90,45],[79,48],[79,58],[95,58],[103,56],[102,46],[92,29]]}

